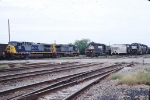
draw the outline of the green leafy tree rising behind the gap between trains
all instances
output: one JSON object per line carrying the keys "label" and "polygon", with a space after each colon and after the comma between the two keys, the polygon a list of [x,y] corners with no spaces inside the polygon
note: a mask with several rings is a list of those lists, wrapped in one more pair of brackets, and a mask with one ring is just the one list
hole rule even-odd
{"label": "green leafy tree rising behind the gap between trains", "polygon": [[84,50],[88,47],[88,44],[90,42],[90,39],[82,39],[82,40],[76,40],[74,42],[75,45],[79,48],[80,54],[85,54]]}

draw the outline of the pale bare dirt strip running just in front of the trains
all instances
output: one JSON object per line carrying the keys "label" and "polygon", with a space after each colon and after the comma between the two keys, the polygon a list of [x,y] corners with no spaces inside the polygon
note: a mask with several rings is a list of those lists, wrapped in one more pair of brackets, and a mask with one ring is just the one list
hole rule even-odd
{"label": "pale bare dirt strip running just in front of the trains", "polygon": [[19,62],[138,62],[138,63],[150,63],[150,55],[133,56],[133,57],[121,57],[121,56],[110,56],[110,57],[63,57],[63,58],[46,58],[46,59],[29,59],[29,60],[1,60],[0,63],[19,63]]}

